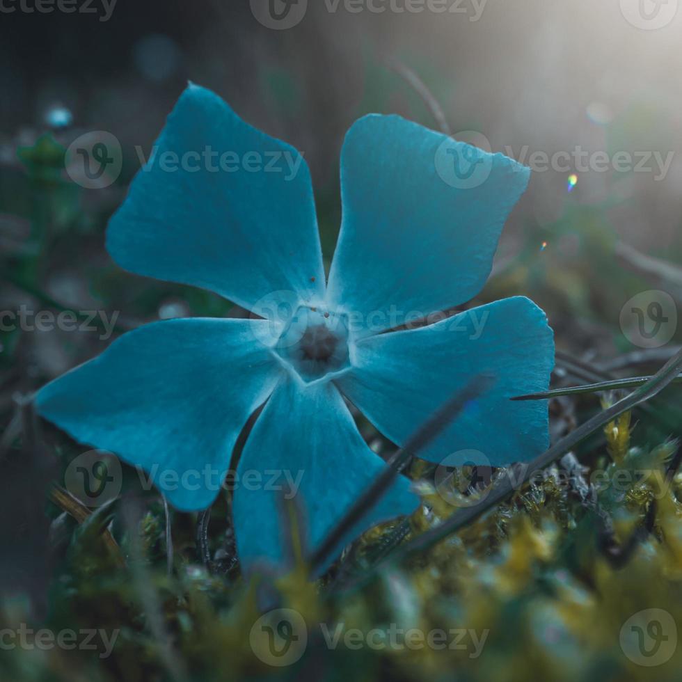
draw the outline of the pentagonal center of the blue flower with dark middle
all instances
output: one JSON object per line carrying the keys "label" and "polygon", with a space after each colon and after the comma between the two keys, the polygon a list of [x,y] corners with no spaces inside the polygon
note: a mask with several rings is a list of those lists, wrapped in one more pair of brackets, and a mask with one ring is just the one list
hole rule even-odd
{"label": "pentagonal center of the blue flower with dark middle", "polygon": [[301,306],[285,326],[275,351],[306,383],[331,378],[349,366],[345,315]]}

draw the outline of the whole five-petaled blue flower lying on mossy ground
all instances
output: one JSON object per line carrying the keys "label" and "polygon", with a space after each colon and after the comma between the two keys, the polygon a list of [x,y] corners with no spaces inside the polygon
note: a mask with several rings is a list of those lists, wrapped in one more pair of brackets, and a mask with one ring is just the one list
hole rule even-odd
{"label": "whole five-petaled blue flower lying on mossy ground", "polygon": [[[445,182],[434,161],[444,144],[485,168],[484,181]],[[420,457],[469,449],[502,466],[544,450],[546,404],[509,401],[548,387],[553,334],[534,303],[517,296],[392,331],[481,290],[528,168],[399,116],[361,118],[341,154],[343,218],[326,283],[299,152],[194,85],[155,146],[111,219],[109,253],[129,271],[204,287],[264,319],[173,319],[129,332],[40,390],[45,418],[148,471],[177,509],[196,510],[216,498],[264,404],[232,503],[247,569],[283,561],[278,489],[296,492],[315,548],[386,466],[344,397],[402,444],[473,374],[493,372],[493,390]],[[347,540],[416,505],[399,477]]]}

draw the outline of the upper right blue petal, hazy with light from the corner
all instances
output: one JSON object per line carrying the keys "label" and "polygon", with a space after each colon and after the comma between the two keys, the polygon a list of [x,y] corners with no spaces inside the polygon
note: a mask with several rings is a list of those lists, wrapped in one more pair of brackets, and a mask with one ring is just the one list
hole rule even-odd
{"label": "upper right blue petal, hazy with light from the corner", "polygon": [[[447,166],[459,157],[477,173],[461,183]],[[529,177],[502,154],[399,116],[361,118],[341,154],[343,219],[328,302],[359,315],[369,333],[473,298]]]}

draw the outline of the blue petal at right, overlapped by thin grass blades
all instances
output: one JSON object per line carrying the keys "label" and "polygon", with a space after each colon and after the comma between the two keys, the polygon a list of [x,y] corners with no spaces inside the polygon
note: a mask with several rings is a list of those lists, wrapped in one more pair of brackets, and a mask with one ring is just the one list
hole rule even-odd
{"label": "blue petal at right, overlapped by thin grass blades", "polygon": [[524,296],[363,339],[355,353],[354,370],[335,383],[399,445],[475,374],[495,375],[491,390],[419,453],[423,459],[439,462],[459,450],[478,450],[484,455],[478,463],[505,466],[528,461],[548,445],[547,403],[509,400],[546,390],[554,365],[553,332],[544,312]]}

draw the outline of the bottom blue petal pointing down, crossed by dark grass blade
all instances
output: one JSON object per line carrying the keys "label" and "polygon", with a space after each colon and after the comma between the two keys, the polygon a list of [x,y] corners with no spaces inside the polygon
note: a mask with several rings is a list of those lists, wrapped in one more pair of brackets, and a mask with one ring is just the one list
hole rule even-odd
{"label": "bottom blue petal pointing down, crossed by dark grass blade", "polygon": [[[303,512],[304,541],[313,550],[384,467],[381,457],[363,441],[331,383],[303,386],[293,377],[283,379],[248,436],[237,467],[232,512],[242,566],[283,564],[286,540],[280,496],[293,496]],[[246,484],[259,477],[263,485]],[[340,544],[336,556],[360,532],[410,514],[418,502],[408,479],[399,476]]]}

